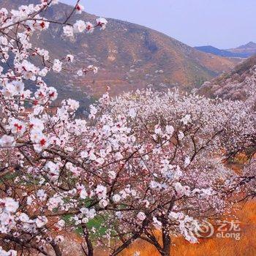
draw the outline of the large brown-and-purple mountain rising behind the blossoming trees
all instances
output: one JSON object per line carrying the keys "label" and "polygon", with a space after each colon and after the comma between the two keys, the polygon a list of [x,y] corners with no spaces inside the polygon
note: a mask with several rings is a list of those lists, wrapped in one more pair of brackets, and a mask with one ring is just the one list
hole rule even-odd
{"label": "large brown-and-purple mountain rising behind the blossoming trees", "polygon": [[[0,7],[8,10],[21,4],[37,3],[36,0],[1,0]],[[45,13],[47,18],[64,20],[72,10],[67,4],[57,4]],[[83,12],[71,21],[94,21],[95,15]],[[71,53],[76,57],[76,68],[94,64],[97,75],[86,78],[70,77],[69,74],[48,77],[48,81],[60,92],[61,97],[74,97],[86,104],[99,97],[110,86],[110,94],[140,89],[179,86],[191,90],[205,80],[227,72],[238,62],[220,56],[203,53],[178,42],[172,37],[134,23],[108,18],[105,31],[78,34],[72,40],[63,37],[57,25],[32,39],[37,47],[46,48],[53,58]]]}

